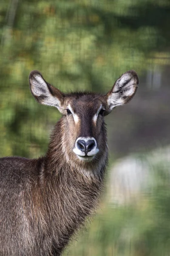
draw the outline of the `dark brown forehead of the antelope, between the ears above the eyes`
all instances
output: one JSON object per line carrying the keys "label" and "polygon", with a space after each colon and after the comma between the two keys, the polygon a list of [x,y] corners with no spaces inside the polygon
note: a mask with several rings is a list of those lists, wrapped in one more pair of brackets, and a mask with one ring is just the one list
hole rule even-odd
{"label": "dark brown forehead of the antelope, between the ears above the eyes", "polygon": [[97,111],[101,105],[105,108],[105,97],[96,93],[76,93],[67,96],[66,104],[70,104],[77,111],[83,109]]}

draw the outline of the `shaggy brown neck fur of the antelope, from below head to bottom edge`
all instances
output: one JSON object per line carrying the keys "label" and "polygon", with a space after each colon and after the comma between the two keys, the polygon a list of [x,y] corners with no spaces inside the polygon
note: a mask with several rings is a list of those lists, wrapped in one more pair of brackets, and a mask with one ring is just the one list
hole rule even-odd
{"label": "shaggy brown neck fur of the antelope, from below head to bottom edge", "polygon": [[[34,206],[37,205],[38,209],[33,209],[33,212],[36,212],[35,218],[40,223],[42,236],[47,236],[45,243],[51,239],[53,243],[53,248],[49,247],[46,255],[60,255],[71,235],[79,230],[85,218],[94,212],[103,190],[105,166],[108,161],[105,142],[100,159],[94,160],[93,163],[81,164],[77,161],[73,164],[72,152],[65,151],[65,139],[62,135],[65,129],[64,121],[62,117],[54,128],[47,155],[41,166],[40,193],[36,192],[34,195]],[[40,198],[37,198],[37,195]],[[44,244],[44,247],[47,247],[47,244]]]}

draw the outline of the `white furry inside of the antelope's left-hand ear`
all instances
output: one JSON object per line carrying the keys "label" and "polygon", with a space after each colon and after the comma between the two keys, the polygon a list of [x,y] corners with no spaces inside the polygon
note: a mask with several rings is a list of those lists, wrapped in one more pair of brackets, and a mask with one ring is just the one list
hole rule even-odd
{"label": "white furry inside of the antelope's left-hand ear", "polygon": [[56,108],[60,108],[60,101],[57,99],[57,97],[51,95],[47,84],[45,83],[44,79],[42,79],[41,76],[34,76],[34,79],[32,79],[32,86],[31,90],[35,96],[44,96],[44,99],[42,99],[42,104],[48,105],[48,106],[54,106]]}

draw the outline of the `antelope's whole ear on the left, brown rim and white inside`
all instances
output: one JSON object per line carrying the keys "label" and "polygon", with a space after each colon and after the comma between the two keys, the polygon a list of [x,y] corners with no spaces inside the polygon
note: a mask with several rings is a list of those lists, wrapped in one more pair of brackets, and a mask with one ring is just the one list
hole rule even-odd
{"label": "antelope's whole ear on the left, brown rim and white inside", "polygon": [[48,84],[37,70],[31,71],[29,75],[31,93],[37,102],[43,105],[54,106],[63,113],[62,104],[64,94],[56,87]]}

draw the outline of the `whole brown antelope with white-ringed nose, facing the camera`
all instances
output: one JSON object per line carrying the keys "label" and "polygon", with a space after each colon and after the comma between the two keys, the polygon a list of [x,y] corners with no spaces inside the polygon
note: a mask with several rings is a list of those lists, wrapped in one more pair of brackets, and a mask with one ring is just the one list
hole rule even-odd
{"label": "whole brown antelope with white-ringed nose, facing the camera", "polygon": [[45,156],[0,158],[0,255],[60,256],[95,212],[108,163],[104,116],[136,93],[135,71],[124,73],[107,94],[62,93],[31,71],[37,102],[62,117]]}

